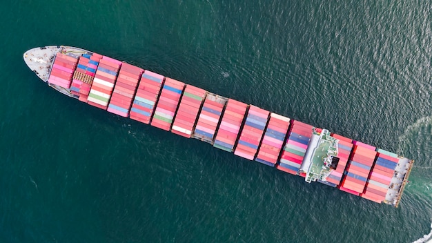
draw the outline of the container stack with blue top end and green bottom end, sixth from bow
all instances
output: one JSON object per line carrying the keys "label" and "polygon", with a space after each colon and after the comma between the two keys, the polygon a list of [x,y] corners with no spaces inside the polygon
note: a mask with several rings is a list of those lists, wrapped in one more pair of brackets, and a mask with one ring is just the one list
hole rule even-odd
{"label": "container stack with blue top end and green bottom end, sixth from bow", "polygon": [[184,83],[181,81],[170,79],[169,77],[165,79],[164,88],[162,88],[155,115],[153,115],[151,122],[152,126],[167,131],[170,130],[183,89]]}

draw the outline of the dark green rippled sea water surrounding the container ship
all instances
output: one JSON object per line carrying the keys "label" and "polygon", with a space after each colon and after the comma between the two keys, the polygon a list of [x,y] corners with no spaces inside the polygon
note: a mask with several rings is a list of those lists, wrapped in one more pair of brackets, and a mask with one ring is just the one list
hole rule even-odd
{"label": "dark green rippled sea water surrounding the container ship", "polygon": [[[413,242],[432,222],[432,2],[6,1],[0,242]],[[70,99],[77,46],[415,159],[398,208]]]}

